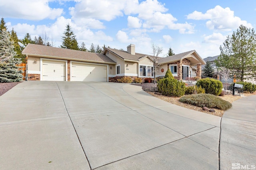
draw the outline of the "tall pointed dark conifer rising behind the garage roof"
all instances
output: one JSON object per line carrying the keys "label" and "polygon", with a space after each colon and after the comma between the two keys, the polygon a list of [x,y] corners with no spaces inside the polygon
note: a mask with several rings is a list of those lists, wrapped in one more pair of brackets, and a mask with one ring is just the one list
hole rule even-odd
{"label": "tall pointed dark conifer rising behind the garage roof", "polygon": [[63,49],[72,49],[72,50],[79,50],[78,43],[76,40],[76,35],[74,35],[74,32],[71,30],[70,25],[66,25],[66,31],[63,33],[64,36],[62,36],[62,45],[60,45]]}

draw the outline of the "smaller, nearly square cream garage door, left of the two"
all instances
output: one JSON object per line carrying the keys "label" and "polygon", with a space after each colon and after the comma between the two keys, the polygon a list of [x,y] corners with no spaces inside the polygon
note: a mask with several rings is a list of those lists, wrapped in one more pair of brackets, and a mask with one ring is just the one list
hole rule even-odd
{"label": "smaller, nearly square cream garage door, left of the two", "polygon": [[43,80],[65,81],[66,62],[43,60]]}

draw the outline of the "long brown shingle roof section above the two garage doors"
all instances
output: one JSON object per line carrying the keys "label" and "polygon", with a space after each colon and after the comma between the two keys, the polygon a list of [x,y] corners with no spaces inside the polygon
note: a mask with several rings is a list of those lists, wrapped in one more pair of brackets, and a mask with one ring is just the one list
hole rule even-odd
{"label": "long brown shingle roof section above the two garage doors", "polygon": [[23,55],[35,55],[40,57],[70,59],[74,61],[95,61],[97,63],[115,63],[106,55],[85,51],[62,49],[45,45],[28,44],[22,51]]}

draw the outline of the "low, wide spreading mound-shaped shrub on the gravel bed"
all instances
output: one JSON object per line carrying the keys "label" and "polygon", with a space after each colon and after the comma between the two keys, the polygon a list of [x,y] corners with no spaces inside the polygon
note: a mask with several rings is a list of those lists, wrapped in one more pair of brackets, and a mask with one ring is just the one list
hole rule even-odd
{"label": "low, wide spreading mound-shaped shrub on the gravel bed", "polygon": [[221,110],[229,109],[232,104],[212,94],[190,94],[182,96],[179,100],[182,103],[198,107],[216,108]]}

